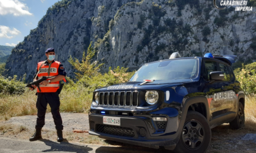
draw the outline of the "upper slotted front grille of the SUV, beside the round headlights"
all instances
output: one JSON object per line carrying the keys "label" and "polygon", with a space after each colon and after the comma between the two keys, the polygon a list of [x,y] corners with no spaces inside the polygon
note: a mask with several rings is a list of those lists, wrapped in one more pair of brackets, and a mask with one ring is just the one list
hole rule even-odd
{"label": "upper slotted front grille of the SUV, beside the round headlights", "polygon": [[138,91],[100,92],[99,105],[138,106]]}

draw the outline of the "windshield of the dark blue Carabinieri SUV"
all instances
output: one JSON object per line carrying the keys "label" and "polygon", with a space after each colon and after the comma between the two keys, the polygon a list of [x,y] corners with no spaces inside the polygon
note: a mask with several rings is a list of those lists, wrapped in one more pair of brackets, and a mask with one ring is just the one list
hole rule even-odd
{"label": "windshield of the dark blue Carabinieri SUV", "polygon": [[130,78],[130,81],[187,80],[196,78],[197,75],[197,59],[168,60],[145,64]]}

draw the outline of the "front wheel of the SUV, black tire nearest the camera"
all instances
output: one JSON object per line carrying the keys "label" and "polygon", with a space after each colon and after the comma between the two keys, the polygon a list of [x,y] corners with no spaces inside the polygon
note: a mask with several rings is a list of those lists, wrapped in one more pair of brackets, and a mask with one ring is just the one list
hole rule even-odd
{"label": "front wheel of the SUV, black tire nearest the camera", "polygon": [[205,152],[210,145],[211,138],[212,131],[204,115],[199,112],[188,111],[183,132],[174,152]]}

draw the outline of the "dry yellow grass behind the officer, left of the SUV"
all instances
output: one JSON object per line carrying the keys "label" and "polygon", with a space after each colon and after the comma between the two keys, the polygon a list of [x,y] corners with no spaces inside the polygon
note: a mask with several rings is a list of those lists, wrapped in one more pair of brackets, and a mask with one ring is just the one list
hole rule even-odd
{"label": "dry yellow grass behind the officer, left of the SUV", "polygon": [[[90,109],[92,94],[85,87],[76,90],[63,89],[60,94],[60,112],[87,112]],[[22,95],[0,97],[0,120],[11,117],[37,114],[37,96],[27,90]],[[48,105],[47,112],[51,112]]]}

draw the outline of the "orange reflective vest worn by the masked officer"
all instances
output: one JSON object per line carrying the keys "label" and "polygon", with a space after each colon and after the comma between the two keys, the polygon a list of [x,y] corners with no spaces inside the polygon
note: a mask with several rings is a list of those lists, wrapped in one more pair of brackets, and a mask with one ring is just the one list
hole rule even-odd
{"label": "orange reflective vest worn by the masked officer", "polygon": [[[59,75],[58,73],[58,69],[60,67],[59,61],[54,61],[54,63],[51,64],[49,75],[48,75],[49,64],[44,64],[44,63],[45,61],[41,61],[40,63],[37,64],[37,70],[39,71],[38,79],[41,79],[43,77],[51,77],[50,79],[48,79],[48,80],[51,80],[52,78],[55,78],[54,76]],[[43,65],[41,66],[41,64]],[[40,66],[41,66],[41,69],[40,69]],[[41,89],[41,92],[57,92],[57,90],[60,88],[60,81],[49,83],[46,86],[39,85],[39,87]],[[37,92],[40,92],[40,91],[37,89]]]}

